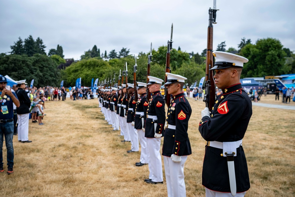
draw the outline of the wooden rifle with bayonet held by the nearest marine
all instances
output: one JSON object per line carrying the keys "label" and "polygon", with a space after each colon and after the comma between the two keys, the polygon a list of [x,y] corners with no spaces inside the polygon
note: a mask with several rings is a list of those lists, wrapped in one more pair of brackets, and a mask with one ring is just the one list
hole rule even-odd
{"label": "wooden rifle with bayonet held by the nearest marine", "polygon": [[206,75],[205,75],[205,95],[204,102],[209,111],[212,110],[215,101],[215,83],[214,83],[214,73],[210,71],[212,66],[214,66],[213,60],[213,24],[216,24],[216,0],[213,3],[213,9],[209,8],[209,26],[208,26],[208,37],[207,37],[207,54],[206,54]]}

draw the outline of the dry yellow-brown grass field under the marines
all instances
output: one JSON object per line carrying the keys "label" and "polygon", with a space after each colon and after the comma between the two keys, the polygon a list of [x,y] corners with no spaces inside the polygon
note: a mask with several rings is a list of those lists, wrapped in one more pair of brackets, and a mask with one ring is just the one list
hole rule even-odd
{"label": "dry yellow-brown grass field under the marines", "polygon": [[[205,196],[201,169],[205,142],[198,131],[204,102],[189,99],[192,152],[185,164],[187,196]],[[274,102],[274,95],[260,102]],[[29,139],[14,137],[14,173],[0,174],[0,196],[167,196],[163,185],[144,183],[148,166],[135,167],[140,153],[127,153],[99,111],[98,100],[46,102],[44,125],[30,122]],[[247,197],[295,196],[295,111],[253,106],[243,140],[251,188]],[[6,147],[3,147],[6,168]],[[163,166],[164,171],[164,166]],[[163,173],[164,174],[164,173]]]}

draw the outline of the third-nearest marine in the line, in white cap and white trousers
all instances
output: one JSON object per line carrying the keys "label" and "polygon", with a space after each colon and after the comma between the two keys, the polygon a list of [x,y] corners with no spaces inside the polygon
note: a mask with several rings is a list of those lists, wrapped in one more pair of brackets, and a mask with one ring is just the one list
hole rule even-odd
{"label": "third-nearest marine in the line, in white cap and white trousers", "polygon": [[[160,155],[161,137],[164,134],[165,102],[160,92],[163,80],[148,76],[149,92],[152,93],[148,103],[147,118],[145,120],[145,137],[147,138],[150,161],[148,164],[151,178],[146,183],[163,184],[162,160]],[[151,179],[151,180],[150,180]]]}

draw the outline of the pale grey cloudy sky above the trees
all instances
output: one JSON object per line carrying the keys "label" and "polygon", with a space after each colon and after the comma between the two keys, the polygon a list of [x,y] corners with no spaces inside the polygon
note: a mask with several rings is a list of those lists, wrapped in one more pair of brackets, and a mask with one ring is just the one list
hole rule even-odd
{"label": "pale grey cloudy sky above the trees", "polygon": [[[122,47],[131,54],[167,45],[201,53],[207,46],[208,9],[213,0],[9,0],[0,1],[0,53],[21,37],[40,37],[46,52],[61,45],[65,58],[80,59],[94,45],[101,53]],[[213,49],[223,41],[237,48],[276,38],[295,51],[294,0],[217,0]]]}

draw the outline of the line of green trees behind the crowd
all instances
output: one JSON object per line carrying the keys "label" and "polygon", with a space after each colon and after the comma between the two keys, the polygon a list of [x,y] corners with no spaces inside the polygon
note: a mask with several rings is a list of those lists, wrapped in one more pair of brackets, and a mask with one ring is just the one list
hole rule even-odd
{"label": "line of green trees behind the crowd", "polygon": [[[19,38],[11,46],[10,55],[0,54],[0,74],[8,74],[13,79],[35,79],[36,86],[59,85],[64,80],[65,86],[74,86],[76,79],[82,78],[82,85],[89,86],[92,78],[113,79],[116,73],[118,81],[119,70],[128,64],[128,82],[133,82],[133,65],[135,59],[130,55],[130,49],[122,48],[119,52],[112,50],[100,54],[96,45],[92,50],[85,51],[81,55],[81,61],[65,61],[63,49],[58,45],[57,49],[50,49],[45,53],[45,44],[41,38],[34,40],[30,35],[24,41]],[[199,82],[205,75],[206,51],[200,54],[187,53],[174,49],[171,51],[171,72],[187,77],[186,83]],[[252,43],[250,39],[242,38],[237,44],[237,49],[230,47],[226,49],[225,41],[217,45],[216,51],[226,51],[244,56],[249,62],[244,64],[242,78],[257,77],[265,75],[280,75],[295,73],[295,54],[288,48],[283,48],[281,42],[274,38],[258,39]],[[164,79],[167,46],[153,49],[153,61],[151,63],[151,75]],[[137,80],[146,81],[147,56],[150,52],[140,52],[137,57]],[[107,61],[108,60],[108,61]]]}

